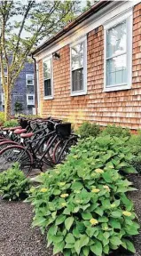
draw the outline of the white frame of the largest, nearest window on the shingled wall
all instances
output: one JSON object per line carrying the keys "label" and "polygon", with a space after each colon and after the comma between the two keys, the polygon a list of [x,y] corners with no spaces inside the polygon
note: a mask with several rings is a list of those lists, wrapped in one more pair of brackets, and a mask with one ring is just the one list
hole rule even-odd
{"label": "white frame of the largest, nearest window on the shingled wall", "polygon": [[[127,84],[114,84],[106,85],[106,32],[110,28],[120,24],[122,21],[127,20]],[[133,29],[133,11],[130,9],[128,12],[121,13],[118,17],[107,21],[104,24],[104,92],[114,92],[121,90],[129,90],[132,85],[132,29]],[[116,55],[115,55],[116,56]],[[118,55],[119,56],[119,55]],[[114,56],[113,56],[114,57]]]}

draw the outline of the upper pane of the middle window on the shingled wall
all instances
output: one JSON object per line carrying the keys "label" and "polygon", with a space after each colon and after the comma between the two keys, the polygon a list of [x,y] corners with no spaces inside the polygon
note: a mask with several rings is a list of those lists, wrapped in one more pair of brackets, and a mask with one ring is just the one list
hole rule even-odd
{"label": "upper pane of the middle window on the shingled wall", "polygon": [[83,67],[83,43],[77,44],[71,48],[72,69]]}

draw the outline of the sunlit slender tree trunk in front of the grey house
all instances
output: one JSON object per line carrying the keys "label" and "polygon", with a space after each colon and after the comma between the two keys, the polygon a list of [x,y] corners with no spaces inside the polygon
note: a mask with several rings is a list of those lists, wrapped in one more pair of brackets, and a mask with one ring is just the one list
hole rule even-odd
{"label": "sunlit slender tree trunk in front of the grey house", "polygon": [[9,91],[11,91],[10,88],[8,88],[6,92],[4,92],[4,120],[5,121],[11,120],[12,96],[11,96],[11,92]]}

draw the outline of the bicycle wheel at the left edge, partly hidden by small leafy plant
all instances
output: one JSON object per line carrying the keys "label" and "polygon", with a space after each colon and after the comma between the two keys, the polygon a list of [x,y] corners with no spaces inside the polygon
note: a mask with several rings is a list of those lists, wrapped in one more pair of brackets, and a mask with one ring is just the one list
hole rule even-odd
{"label": "bicycle wheel at the left edge, partly hidden by small leafy plant", "polygon": [[20,170],[27,176],[32,170],[33,157],[30,152],[19,145],[9,146],[0,151],[0,172],[12,168],[14,163],[20,164]]}

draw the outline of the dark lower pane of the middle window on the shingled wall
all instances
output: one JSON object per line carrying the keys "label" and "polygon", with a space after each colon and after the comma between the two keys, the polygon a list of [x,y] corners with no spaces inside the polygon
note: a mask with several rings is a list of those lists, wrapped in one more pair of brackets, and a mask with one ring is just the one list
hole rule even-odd
{"label": "dark lower pane of the middle window on the shingled wall", "polygon": [[83,90],[83,68],[74,70],[72,72],[73,92]]}

